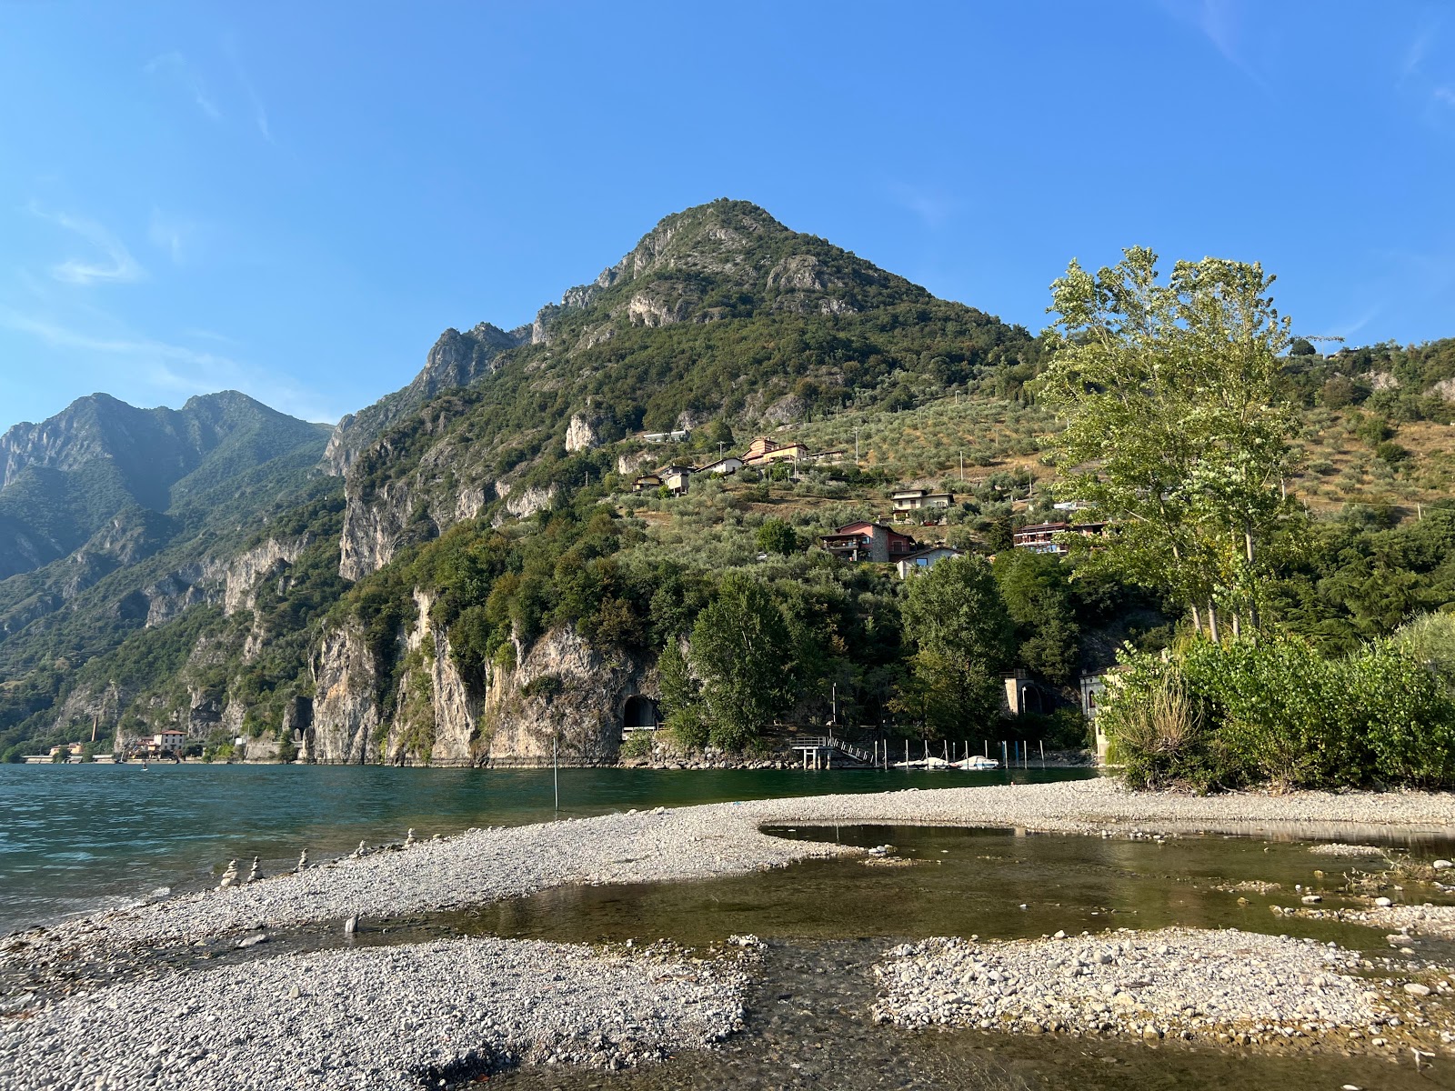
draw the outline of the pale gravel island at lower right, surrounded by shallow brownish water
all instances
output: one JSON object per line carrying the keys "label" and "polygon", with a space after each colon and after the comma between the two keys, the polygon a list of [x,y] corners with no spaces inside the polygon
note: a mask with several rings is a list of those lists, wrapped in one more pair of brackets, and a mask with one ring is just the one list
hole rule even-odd
{"label": "pale gravel island at lower right, surrounded by shallow brownish water", "polygon": [[[896,947],[874,967],[874,1018],[909,1028],[1328,1043],[1340,1052],[1430,1050],[1448,1042],[1440,1037],[1448,980],[1372,970],[1358,951],[1334,944],[1231,928],[937,938]],[[1440,1011],[1426,1011],[1432,1005]]]}

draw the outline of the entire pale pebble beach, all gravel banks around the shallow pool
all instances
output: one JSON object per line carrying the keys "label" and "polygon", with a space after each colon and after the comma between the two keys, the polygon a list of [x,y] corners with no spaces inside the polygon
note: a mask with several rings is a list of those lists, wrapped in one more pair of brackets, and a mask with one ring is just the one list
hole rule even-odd
{"label": "entire pale pebble beach, all gravel banks around the shallow pool", "polygon": [[[714,962],[495,938],[268,957],[266,938],[298,925],[342,932],[349,919],[399,918],[549,887],[685,882],[863,852],[762,832],[764,826],[832,825],[1001,826],[1093,836],[1277,832],[1358,842],[1381,832],[1449,832],[1455,796],[1195,797],[1129,793],[1110,780],[1084,780],[658,807],[471,829],[407,847],[403,839],[364,847],[300,871],[0,940],[0,1084],[352,1087],[359,1074],[368,1074],[370,1087],[419,1087],[420,1074],[431,1072],[442,1074],[432,1075],[431,1085],[439,1079],[453,1085],[506,1063],[613,1068],[669,1049],[709,1047],[742,1017],[742,982],[751,973],[745,953],[754,941],[719,953]],[[1395,924],[1394,916],[1388,919]],[[1350,969],[1347,953],[1293,941],[1283,948],[1275,937],[1238,937],[1231,948],[1229,937],[1193,930],[1161,937],[1048,937],[1045,943],[1053,950],[930,941],[892,951],[879,970],[886,991],[876,1015],[899,1026],[991,1020],[997,1028],[1026,1033],[1053,1031],[1058,1024],[1103,1033],[1103,1023],[1116,1033],[1142,1033],[1151,1024],[1158,1036],[1186,1030],[1213,1040],[1247,1034],[1247,1027],[1285,1024],[1312,1040],[1327,1023],[1346,1037],[1352,1028],[1368,1040],[1375,1036],[1371,1027],[1378,1030],[1390,1011],[1413,996],[1401,992],[1406,982],[1395,978],[1366,995],[1371,988],[1349,976],[1358,967]],[[259,957],[201,970],[176,969],[162,957],[207,944],[258,944]],[[1229,992],[1244,985],[1235,980],[1244,947],[1253,951],[1248,959],[1276,973],[1263,992],[1275,992],[1277,1007],[1259,1008],[1241,992]],[[1115,962],[1101,962],[1107,951]],[[1036,978],[1017,988],[1018,1001],[966,992],[973,982],[981,982],[978,988],[1001,985],[989,979],[992,972],[1004,978],[1052,963],[1059,967],[1046,972],[1046,982]],[[986,969],[982,973],[976,966]],[[1181,978],[1167,976],[1174,966],[1184,970]],[[1189,1023],[1196,1017],[1164,1010],[1155,989],[1141,991],[1138,1002],[1145,1001],[1145,1008],[1113,1002],[1117,991],[1129,992],[1132,979],[1120,980],[1128,973],[1136,980],[1163,975],[1167,1004],[1192,1004],[1209,1021]],[[978,976],[968,980],[968,975]],[[1087,994],[1091,986],[1094,996]],[[1112,989],[1106,1002],[1096,999],[1106,988]],[[1443,992],[1448,985],[1420,988]],[[1219,989],[1228,992],[1221,1001],[1213,995]],[[614,995],[620,1001],[610,1001]],[[962,995],[969,999],[949,999]],[[461,1002],[461,996],[473,999]],[[1045,1007],[1020,1007],[1055,1004],[1064,1010],[1051,1018],[1043,1017]],[[1219,1005],[1227,1007],[1227,1017]],[[146,1033],[111,1055],[79,1052],[77,1042],[103,1037],[108,1020],[116,1026],[144,1011],[182,1010],[189,1027],[215,1027],[215,1033],[196,1034],[179,1053],[148,1055]],[[615,1040],[586,1033],[602,1011],[627,1020]],[[1315,1031],[1305,1030],[1305,1023]],[[1435,1023],[1426,1020],[1430,1027]],[[143,1026],[150,1024],[143,1020]],[[279,1058],[281,1068],[249,1068],[249,1058],[258,1056]]]}

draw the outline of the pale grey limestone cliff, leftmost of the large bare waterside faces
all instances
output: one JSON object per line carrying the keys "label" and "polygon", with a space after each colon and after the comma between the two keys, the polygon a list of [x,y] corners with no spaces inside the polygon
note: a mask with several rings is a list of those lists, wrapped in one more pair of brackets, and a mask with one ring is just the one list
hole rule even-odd
{"label": "pale grey limestone cliff, leftmost of the large bare waterside faces", "polygon": [[329,765],[378,761],[380,707],[374,656],[354,627],[323,636],[313,660],[313,723],[300,756]]}

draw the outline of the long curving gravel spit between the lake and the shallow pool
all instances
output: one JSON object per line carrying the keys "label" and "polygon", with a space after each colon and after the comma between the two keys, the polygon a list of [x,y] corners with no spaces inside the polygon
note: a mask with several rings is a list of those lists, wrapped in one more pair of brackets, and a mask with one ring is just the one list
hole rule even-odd
{"label": "long curving gravel spit between the lake and the shallow pool", "polygon": [[470,829],[301,873],[205,890],[17,932],[0,941],[0,980],[47,948],[194,943],[253,928],[391,918],[554,886],[711,879],[858,850],[768,836],[761,826],[1013,826],[1100,835],[1179,832],[1360,836],[1455,832],[1451,793],[1186,796],[1110,780],[810,796]]}

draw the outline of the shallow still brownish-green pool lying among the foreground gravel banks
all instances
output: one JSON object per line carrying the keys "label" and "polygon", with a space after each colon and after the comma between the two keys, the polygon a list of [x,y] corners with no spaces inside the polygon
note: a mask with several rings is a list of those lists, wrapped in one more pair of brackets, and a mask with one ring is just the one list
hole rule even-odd
{"label": "shallow still brownish-green pool lying among the foreground gravel banks", "polygon": [[[368,922],[355,943],[441,934],[637,944],[671,940],[706,948],[733,934],[767,941],[746,1026],[717,1050],[684,1052],[630,1072],[522,1069],[490,1078],[519,1091],[668,1088],[1267,1088],[1339,1091],[1455,1088],[1455,1059],[1280,1056],[1181,1042],[979,1030],[905,1031],[876,1026],[872,966],[896,943],[930,935],[985,940],[1167,925],[1241,928],[1320,943],[1366,957],[1401,957],[1382,931],[1275,915],[1321,893],[1320,908],[1356,905],[1339,887],[1378,858],[1315,855],[1308,842],[1184,836],[1161,842],[912,826],[770,828],[789,838],[893,845],[892,861],[815,860],[694,883],[563,887],[463,912]],[[1427,839],[1395,847],[1416,858],[1449,855]],[[1318,874],[1318,873],[1323,874]],[[1257,892],[1240,883],[1276,883]],[[1387,890],[1397,900],[1451,902],[1429,884]],[[1241,900],[1240,900],[1241,899]],[[387,930],[387,931],[386,931]],[[324,944],[336,937],[317,937]],[[295,941],[307,943],[306,937]],[[1455,964],[1455,944],[1419,943],[1419,959]]]}

